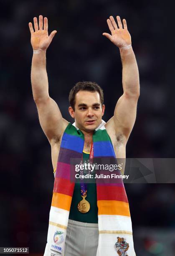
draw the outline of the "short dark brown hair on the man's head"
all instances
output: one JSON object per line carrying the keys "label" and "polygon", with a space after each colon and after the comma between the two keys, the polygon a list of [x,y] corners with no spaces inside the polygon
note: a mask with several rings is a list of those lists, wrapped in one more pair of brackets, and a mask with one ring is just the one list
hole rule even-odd
{"label": "short dark brown hair on the man's head", "polygon": [[102,107],[104,96],[103,96],[103,90],[101,89],[101,87],[96,82],[83,81],[83,82],[76,83],[74,87],[71,89],[71,91],[69,92],[68,100],[73,110],[75,110],[75,96],[76,96],[76,93],[79,91],[98,92],[100,95],[100,101],[101,101],[101,107]]}

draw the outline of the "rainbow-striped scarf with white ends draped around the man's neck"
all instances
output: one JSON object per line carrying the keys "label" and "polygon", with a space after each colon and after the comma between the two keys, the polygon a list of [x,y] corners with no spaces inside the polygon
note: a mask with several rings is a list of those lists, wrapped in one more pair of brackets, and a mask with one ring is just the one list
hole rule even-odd
{"label": "rainbow-striped scarf with white ends draped around the man's neck", "polygon": [[[94,158],[115,158],[114,148],[105,122],[94,131]],[[81,159],[84,134],[75,123],[68,124],[63,133],[56,168],[48,237],[44,256],[64,256],[74,183],[70,181],[70,159]],[[96,256],[135,256],[129,204],[123,182],[101,184],[96,182],[99,244]]]}

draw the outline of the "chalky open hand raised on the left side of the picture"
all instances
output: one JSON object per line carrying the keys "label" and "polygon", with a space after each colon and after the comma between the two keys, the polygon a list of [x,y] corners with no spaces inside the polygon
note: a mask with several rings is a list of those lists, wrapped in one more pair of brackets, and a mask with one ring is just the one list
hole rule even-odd
{"label": "chalky open hand raised on the left side of the picture", "polygon": [[39,16],[39,30],[38,30],[38,22],[37,18],[33,18],[35,32],[33,31],[32,23],[29,22],[28,26],[30,28],[31,33],[31,45],[33,50],[43,50],[46,51],[48,46],[51,44],[53,36],[56,34],[56,30],[52,31],[50,36],[48,36],[48,20],[44,18],[44,29],[43,29],[43,16]]}

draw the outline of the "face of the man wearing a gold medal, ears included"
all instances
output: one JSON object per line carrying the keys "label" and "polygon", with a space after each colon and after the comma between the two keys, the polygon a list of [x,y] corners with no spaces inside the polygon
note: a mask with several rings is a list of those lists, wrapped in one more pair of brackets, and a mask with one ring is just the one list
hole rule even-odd
{"label": "face of the man wearing a gold medal, ears included", "polygon": [[79,129],[90,132],[100,125],[104,109],[104,105],[101,108],[98,92],[79,91],[75,96],[75,111],[69,107],[69,113],[72,118],[75,118]]}

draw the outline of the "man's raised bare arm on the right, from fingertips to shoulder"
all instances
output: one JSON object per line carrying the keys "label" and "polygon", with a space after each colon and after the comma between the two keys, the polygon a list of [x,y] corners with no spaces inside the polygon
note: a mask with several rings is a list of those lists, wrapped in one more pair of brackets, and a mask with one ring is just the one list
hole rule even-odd
{"label": "man's raised bare arm on the right, from fingertips to shoulder", "polygon": [[136,119],[139,98],[139,72],[126,20],[123,19],[123,27],[119,16],[117,16],[118,26],[113,16],[109,18],[107,24],[111,35],[109,33],[103,33],[103,35],[119,47],[123,67],[123,95],[117,101],[114,116],[108,121],[107,126],[114,129],[117,135],[124,135],[125,142],[127,142]]}

